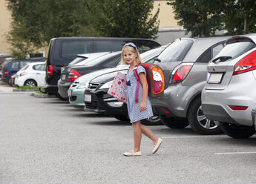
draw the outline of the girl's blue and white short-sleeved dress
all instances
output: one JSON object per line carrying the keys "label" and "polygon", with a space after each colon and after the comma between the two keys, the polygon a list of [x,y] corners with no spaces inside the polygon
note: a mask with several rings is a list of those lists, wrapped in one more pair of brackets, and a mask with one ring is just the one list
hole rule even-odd
{"label": "girl's blue and white short-sleeved dress", "polygon": [[[137,67],[138,75],[142,72],[145,73],[146,75],[145,68],[139,65]],[[148,96],[146,100],[147,109],[145,111],[140,111],[140,103],[142,101],[142,85],[141,84],[139,88],[139,102],[137,103],[135,102],[137,79],[134,76],[134,70],[128,70],[126,74],[126,83],[128,84],[126,89],[127,108],[128,108],[128,115],[131,119],[131,123],[153,116],[151,102]]]}

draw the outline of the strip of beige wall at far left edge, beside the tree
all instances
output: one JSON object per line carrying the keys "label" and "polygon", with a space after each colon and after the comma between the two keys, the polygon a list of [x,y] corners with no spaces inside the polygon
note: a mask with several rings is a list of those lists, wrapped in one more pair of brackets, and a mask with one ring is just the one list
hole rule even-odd
{"label": "strip of beige wall at far left edge, beside the tree", "polygon": [[7,10],[7,1],[0,0],[0,53],[10,53],[10,44],[7,43],[5,35],[10,29],[11,16]]}

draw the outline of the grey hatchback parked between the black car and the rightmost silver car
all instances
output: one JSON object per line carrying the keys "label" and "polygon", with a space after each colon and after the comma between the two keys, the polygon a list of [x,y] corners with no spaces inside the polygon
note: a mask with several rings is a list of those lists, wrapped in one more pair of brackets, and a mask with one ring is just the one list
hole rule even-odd
{"label": "grey hatchback parked between the black car and the rightmost silver car", "polygon": [[165,125],[185,128],[189,124],[198,134],[220,133],[218,124],[203,114],[201,91],[206,84],[206,67],[227,38],[176,39],[157,57],[165,72],[166,87],[164,95],[151,102]]}

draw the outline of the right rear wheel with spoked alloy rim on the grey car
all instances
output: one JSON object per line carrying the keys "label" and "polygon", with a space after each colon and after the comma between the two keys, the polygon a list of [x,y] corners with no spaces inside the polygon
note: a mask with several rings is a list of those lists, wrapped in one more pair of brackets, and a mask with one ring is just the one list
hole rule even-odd
{"label": "right rear wheel with spoked alloy rim on the grey car", "polygon": [[212,135],[221,133],[219,122],[211,121],[203,114],[200,97],[194,99],[188,109],[188,122],[198,134]]}

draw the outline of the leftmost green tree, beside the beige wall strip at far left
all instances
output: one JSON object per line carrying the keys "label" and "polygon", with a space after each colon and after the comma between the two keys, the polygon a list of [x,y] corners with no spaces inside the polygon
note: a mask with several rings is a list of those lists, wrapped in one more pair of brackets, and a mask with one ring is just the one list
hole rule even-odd
{"label": "leftmost green tree, beside the beige wall strip at far left", "polygon": [[87,24],[86,0],[7,1],[13,18],[7,40],[17,59],[46,46],[53,37],[98,35]]}

